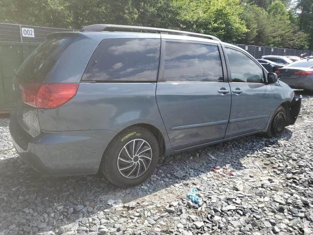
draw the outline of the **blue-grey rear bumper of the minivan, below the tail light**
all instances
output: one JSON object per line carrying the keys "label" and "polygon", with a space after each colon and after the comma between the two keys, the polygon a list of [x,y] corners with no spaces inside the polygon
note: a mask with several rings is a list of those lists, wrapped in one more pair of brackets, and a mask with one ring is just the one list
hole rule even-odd
{"label": "blue-grey rear bumper of the minivan, below the tail light", "polygon": [[109,130],[42,132],[32,138],[11,115],[10,133],[21,158],[52,176],[95,174],[104,150],[116,135]]}

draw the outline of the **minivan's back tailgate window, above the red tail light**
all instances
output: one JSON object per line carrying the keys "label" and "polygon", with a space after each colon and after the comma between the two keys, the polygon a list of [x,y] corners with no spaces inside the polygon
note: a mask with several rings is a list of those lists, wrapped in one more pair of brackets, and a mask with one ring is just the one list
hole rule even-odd
{"label": "minivan's back tailgate window, above the red tail light", "polygon": [[37,47],[17,72],[20,82],[42,83],[73,38],[51,38]]}

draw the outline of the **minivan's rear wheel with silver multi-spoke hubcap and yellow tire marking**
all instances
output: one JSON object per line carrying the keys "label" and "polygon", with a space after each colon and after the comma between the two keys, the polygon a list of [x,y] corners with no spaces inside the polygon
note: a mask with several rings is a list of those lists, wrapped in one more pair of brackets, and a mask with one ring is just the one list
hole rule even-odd
{"label": "minivan's rear wheel with silver multi-spoke hubcap and yellow tire marking", "polygon": [[153,174],[159,155],[156,137],[143,127],[133,126],[111,141],[100,168],[112,184],[129,188],[141,184]]}

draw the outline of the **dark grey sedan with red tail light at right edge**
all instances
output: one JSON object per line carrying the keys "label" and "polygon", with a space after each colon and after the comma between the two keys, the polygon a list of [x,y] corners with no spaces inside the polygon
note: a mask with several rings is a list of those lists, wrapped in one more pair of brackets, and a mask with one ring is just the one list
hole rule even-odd
{"label": "dark grey sedan with red tail light at right edge", "polygon": [[278,78],[293,89],[313,91],[313,60],[294,62],[278,70]]}

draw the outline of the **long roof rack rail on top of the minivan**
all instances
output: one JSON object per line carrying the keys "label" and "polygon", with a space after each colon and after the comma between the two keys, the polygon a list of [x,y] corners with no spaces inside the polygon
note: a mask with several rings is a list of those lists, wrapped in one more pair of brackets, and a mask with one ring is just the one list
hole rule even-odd
{"label": "long roof rack rail on top of the minivan", "polygon": [[81,32],[102,32],[102,31],[114,31],[114,29],[127,29],[127,30],[142,30],[142,31],[154,31],[158,33],[168,33],[168,34],[178,34],[184,36],[193,36],[199,38],[207,38],[212,39],[215,41],[221,41],[217,37],[207,34],[201,33],[191,33],[186,31],[180,30],[172,30],[172,29],[165,29],[165,28],[153,28],[153,27],[143,27],[143,26],[131,26],[131,25],[119,25],[119,24],[91,24],[82,28]]}

